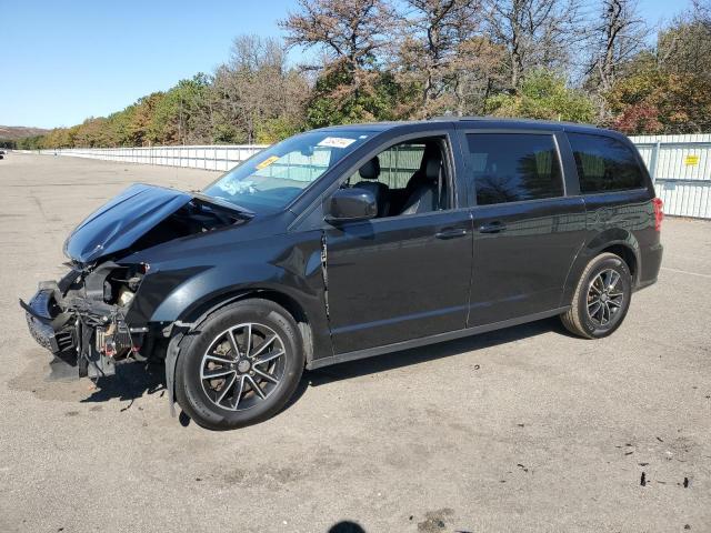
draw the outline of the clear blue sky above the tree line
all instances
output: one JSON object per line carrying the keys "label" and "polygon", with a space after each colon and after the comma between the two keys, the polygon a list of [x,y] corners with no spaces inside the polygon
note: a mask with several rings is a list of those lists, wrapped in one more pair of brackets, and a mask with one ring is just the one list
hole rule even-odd
{"label": "clear blue sky above the tree line", "polygon": [[[690,4],[638,2],[652,26]],[[69,127],[119,111],[212,72],[238,34],[283,36],[290,10],[297,0],[0,0],[0,124]]]}

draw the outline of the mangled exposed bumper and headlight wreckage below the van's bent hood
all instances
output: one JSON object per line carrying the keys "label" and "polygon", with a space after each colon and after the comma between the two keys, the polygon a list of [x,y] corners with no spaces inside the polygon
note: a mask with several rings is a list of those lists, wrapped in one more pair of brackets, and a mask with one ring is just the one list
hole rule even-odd
{"label": "mangled exposed bumper and headlight wreckage below the van's bent hood", "polygon": [[77,366],[79,376],[112,375],[117,361],[143,359],[148,328],[132,328],[126,318],[148,268],[73,265],[61,280],[41,282],[29,303],[20,300],[30,333],[54,356]]}

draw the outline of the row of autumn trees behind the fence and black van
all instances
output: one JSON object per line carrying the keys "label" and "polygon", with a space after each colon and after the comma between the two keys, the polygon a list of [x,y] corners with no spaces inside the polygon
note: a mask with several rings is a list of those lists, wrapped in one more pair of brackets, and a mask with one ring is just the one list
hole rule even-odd
{"label": "row of autumn trees behind the fence and black van", "polygon": [[[18,145],[271,143],[447,112],[711,130],[711,0],[692,1],[652,46],[634,0],[595,0],[585,24],[580,0],[299,0],[284,42],[239,36],[209,76]],[[318,53],[294,67],[288,47]]]}

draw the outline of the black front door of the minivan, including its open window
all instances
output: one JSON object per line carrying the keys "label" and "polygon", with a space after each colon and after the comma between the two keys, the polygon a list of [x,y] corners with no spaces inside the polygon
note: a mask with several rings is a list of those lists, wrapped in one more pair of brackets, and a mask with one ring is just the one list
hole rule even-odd
{"label": "black front door of the minivan, including its open window", "polygon": [[468,209],[451,209],[448,145],[444,139],[404,144],[381,152],[344,183],[378,194],[378,218],[324,230],[337,354],[467,323],[472,223]]}

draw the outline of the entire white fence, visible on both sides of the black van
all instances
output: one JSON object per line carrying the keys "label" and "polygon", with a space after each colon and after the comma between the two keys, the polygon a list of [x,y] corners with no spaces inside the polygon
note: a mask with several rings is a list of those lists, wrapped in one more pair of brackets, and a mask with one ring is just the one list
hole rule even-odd
{"label": "entire white fence, visible on both sides of the black van", "polygon": [[[711,219],[711,134],[631,138],[671,215]],[[77,158],[127,163],[229,170],[266,145],[94,148],[41,150]]]}

